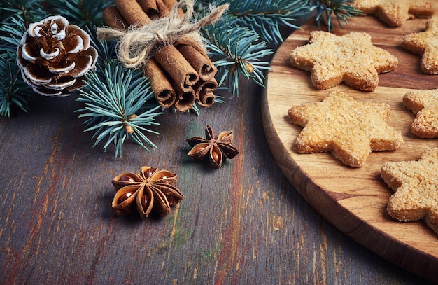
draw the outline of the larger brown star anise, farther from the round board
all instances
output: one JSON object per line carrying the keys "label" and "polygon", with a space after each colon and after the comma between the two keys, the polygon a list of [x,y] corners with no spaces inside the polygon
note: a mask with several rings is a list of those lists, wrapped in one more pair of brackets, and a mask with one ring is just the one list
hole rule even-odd
{"label": "larger brown star anise, farther from the round board", "polygon": [[119,215],[126,215],[135,208],[141,218],[151,211],[160,216],[170,213],[170,207],[183,200],[184,195],[175,187],[176,174],[157,167],[141,167],[141,174],[124,172],[113,178],[117,192],[111,207]]}

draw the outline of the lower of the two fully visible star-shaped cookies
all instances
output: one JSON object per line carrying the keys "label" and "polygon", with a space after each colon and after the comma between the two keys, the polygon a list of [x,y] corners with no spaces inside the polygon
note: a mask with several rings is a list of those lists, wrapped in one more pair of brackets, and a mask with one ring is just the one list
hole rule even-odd
{"label": "lower of the two fully visible star-shaped cookies", "polygon": [[371,151],[391,151],[403,143],[401,132],[386,120],[386,103],[361,102],[334,90],[321,102],[292,106],[292,123],[300,125],[295,148],[298,153],[330,151],[351,167],[361,167]]}

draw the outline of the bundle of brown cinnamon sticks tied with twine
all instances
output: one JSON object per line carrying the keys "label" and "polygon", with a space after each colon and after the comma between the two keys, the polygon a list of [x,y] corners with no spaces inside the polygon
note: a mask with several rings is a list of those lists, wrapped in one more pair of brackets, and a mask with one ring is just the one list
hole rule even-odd
{"label": "bundle of brown cinnamon sticks tied with twine", "polygon": [[[105,25],[126,30],[129,26],[148,25],[167,17],[177,0],[115,0],[114,3],[115,6],[103,11]],[[182,16],[183,11],[180,13]],[[217,69],[204,48],[190,36],[157,49],[142,67],[163,108],[174,106],[178,111],[187,111],[195,102],[203,107],[214,103]]]}

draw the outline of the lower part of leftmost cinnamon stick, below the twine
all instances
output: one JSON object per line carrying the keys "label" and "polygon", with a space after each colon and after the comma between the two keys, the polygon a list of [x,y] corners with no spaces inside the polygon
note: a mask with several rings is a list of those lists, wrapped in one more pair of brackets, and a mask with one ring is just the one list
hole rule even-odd
{"label": "lower part of leftmost cinnamon stick, below the twine", "polygon": [[148,77],[150,88],[153,90],[154,97],[157,99],[164,109],[167,109],[175,104],[176,94],[175,90],[169,83],[169,77],[162,71],[160,65],[151,58],[143,64],[143,74]]}

